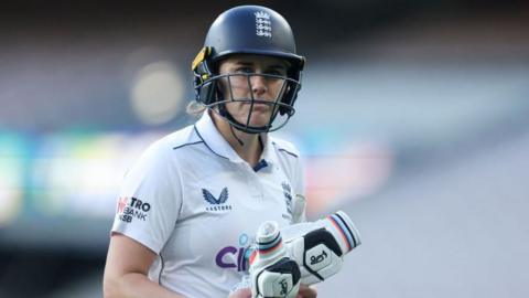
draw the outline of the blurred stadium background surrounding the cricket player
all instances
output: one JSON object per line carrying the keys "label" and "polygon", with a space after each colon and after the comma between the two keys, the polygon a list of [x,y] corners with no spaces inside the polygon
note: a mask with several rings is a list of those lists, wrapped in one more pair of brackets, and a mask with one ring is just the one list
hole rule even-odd
{"label": "blurred stadium background surrounding the cricket player", "polygon": [[[190,62],[240,1],[0,10],[0,297],[101,297],[123,172],[193,119]],[[529,296],[529,6],[257,1],[307,57],[310,216],[363,246],[320,297]]]}

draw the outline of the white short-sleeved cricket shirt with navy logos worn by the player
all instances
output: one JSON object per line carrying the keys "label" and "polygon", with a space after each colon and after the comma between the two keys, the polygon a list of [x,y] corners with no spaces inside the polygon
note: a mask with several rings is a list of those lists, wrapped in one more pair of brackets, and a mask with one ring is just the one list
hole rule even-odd
{"label": "white short-sleeved cricket shirt with navy logos worn by the player", "polygon": [[130,169],[112,232],[158,254],[150,279],[184,297],[227,297],[259,225],[291,223],[291,200],[304,194],[299,152],[269,135],[261,140],[261,160],[251,168],[206,111],[151,145]]}

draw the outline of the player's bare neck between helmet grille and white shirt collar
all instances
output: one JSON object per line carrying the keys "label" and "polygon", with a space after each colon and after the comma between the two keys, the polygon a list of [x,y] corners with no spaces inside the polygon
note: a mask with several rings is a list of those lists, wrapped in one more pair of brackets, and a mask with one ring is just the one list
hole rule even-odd
{"label": "player's bare neck between helmet grille and white shirt collar", "polygon": [[231,128],[228,121],[215,113],[212,113],[210,116],[220,135],[223,135],[224,139],[228,141],[237,155],[251,167],[257,166],[262,153],[259,134],[247,134]]}

